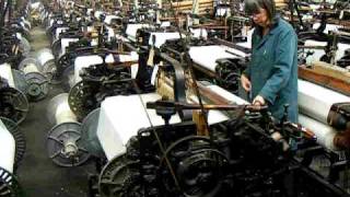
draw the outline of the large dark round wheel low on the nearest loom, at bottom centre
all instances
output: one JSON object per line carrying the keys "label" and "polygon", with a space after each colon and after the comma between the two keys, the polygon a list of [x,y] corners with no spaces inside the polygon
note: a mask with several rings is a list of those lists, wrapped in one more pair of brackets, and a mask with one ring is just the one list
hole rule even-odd
{"label": "large dark round wheel low on the nearest loom, at bottom centre", "polygon": [[[229,164],[226,157],[211,144],[209,138],[188,136],[175,141],[166,151],[165,157],[172,163],[184,196],[211,197],[218,195],[222,187],[224,169]],[[175,188],[174,179],[162,160],[164,186]]]}

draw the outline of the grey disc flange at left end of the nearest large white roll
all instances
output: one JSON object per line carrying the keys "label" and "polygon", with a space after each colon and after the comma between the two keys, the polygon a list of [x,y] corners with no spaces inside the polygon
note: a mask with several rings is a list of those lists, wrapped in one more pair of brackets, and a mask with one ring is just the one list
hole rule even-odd
{"label": "grey disc flange at left end of the nearest large white roll", "polygon": [[81,126],[81,143],[92,155],[104,158],[104,151],[97,138],[97,126],[101,108],[92,111],[82,121]]}

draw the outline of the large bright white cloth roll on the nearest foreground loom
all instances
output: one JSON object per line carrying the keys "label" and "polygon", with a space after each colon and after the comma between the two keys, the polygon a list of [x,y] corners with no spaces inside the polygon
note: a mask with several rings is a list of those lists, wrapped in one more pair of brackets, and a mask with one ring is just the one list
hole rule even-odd
{"label": "large bright white cloth roll on the nearest foreground loom", "polygon": [[[142,97],[142,102],[140,97]],[[137,135],[141,128],[150,127],[143,105],[154,102],[161,96],[155,93],[112,96],[107,97],[101,105],[97,126],[97,137],[108,160],[126,152],[126,143]],[[147,109],[152,125],[163,125],[164,120],[158,116],[154,109]],[[179,117],[173,116],[171,123],[179,123]]]}

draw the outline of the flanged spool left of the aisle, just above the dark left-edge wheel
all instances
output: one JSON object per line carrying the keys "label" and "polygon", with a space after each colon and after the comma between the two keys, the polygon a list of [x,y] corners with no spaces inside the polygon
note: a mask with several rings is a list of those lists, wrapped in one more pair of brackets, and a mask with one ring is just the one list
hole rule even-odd
{"label": "flanged spool left of the aisle, just above the dark left-edge wheel", "polygon": [[28,84],[26,94],[32,101],[39,101],[48,93],[48,80],[39,70],[39,62],[35,57],[27,57],[21,61],[19,69],[25,74]]}

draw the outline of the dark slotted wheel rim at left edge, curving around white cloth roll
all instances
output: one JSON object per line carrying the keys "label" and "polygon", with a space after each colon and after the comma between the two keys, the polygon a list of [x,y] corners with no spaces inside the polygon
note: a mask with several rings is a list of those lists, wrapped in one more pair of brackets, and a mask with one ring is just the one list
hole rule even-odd
{"label": "dark slotted wheel rim at left edge, curving around white cloth roll", "polygon": [[19,129],[18,125],[5,117],[0,117],[3,125],[7,127],[7,129],[11,132],[15,140],[15,158],[14,158],[14,165],[15,167],[19,166],[20,162],[23,159],[24,152],[25,152],[25,138],[23,132]]}

